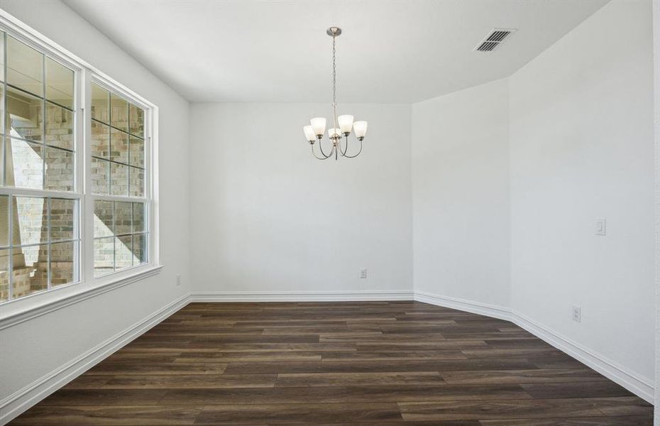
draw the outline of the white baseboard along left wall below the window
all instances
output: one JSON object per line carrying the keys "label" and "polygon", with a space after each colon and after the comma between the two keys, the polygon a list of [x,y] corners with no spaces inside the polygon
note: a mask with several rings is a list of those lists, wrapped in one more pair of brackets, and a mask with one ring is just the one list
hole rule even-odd
{"label": "white baseboard along left wall below the window", "polygon": [[169,317],[177,310],[189,303],[189,295],[180,297],[145,319],[131,325],[114,337],[95,346],[89,351],[81,354],[67,364],[56,368],[45,376],[39,378],[25,388],[16,391],[12,395],[0,401],[0,425],[5,425],[13,418],[21,415],[24,411],[43,400],[57,389],[65,386],[74,378],[98,364],[110,354],[119,350],[122,346],[136,339],[151,327]]}

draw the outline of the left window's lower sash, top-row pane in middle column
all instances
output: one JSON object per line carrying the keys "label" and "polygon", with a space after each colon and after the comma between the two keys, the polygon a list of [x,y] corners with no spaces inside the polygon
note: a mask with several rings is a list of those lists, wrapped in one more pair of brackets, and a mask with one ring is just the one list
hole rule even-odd
{"label": "left window's lower sash, top-row pane in middle column", "polygon": [[13,233],[13,245],[37,244],[48,241],[48,202],[43,197],[15,197],[18,234]]}

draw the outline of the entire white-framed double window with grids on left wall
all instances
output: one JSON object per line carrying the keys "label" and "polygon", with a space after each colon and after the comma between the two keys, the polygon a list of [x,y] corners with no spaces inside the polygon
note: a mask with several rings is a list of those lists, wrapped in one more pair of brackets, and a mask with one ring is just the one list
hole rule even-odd
{"label": "entire white-framed double window with grids on left wall", "polygon": [[153,264],[155,107],[21,28],[2,28],[5,23],[0,303],[102,284],[107,275]]}

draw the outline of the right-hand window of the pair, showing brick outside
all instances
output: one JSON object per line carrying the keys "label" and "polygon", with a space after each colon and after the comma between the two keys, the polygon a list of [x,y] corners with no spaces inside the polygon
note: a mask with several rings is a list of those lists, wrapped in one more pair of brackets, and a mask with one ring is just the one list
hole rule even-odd
{"label": "right-hand window of the pair, showing brick outside", "polygon": [[92,83],[94,275],[147,262],[144,110]]}

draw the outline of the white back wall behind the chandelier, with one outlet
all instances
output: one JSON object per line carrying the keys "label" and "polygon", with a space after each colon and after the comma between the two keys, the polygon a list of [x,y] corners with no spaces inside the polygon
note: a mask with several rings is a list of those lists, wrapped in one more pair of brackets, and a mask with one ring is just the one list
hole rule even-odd
{"label": "white back wall behind the chandelier, with one outlet", "polygon": [[409,106],[341,105],[369,131],[339,161],[313,158],[302,133],[326,104],[191,111],[195,291],[412,290]]}

